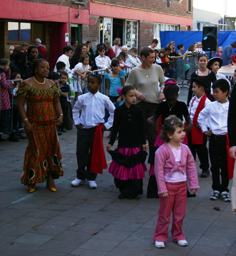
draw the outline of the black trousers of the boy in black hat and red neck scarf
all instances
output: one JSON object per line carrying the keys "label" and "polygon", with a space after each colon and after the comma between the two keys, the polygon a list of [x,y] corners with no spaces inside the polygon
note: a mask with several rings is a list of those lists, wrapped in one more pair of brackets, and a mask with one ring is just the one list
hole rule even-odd
{"label": "black trousers of the boy in black hat and red neck scarf", "polygon": [[203,144],[192,144],[192,137],[189,134],[188,146],[192,152],[193,158],[196,161],[196,154],[200,161],[200,169],[206,171],[209,169],[208,149],[207,149],[207,137],[204,135]]}

